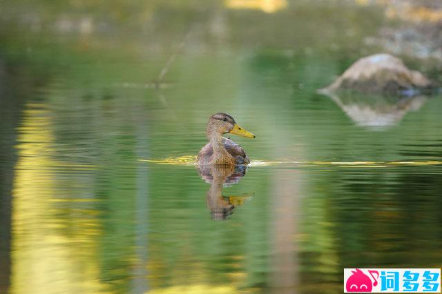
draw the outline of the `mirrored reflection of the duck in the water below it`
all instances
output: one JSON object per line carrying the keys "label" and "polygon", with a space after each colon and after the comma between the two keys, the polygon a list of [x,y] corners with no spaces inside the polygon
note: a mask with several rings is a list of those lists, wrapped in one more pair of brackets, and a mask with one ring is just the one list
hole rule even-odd
{"label": "mirrored reflection of the duck in the water below it", "polygon": [[207,208],[213,220],[225,220],[233,213],[236,206],[248,202],[252,194],[222,196],[222,188],[238,184],[247,173],[247,166],[198,166],[198,174],[210,188],[206,195]]}

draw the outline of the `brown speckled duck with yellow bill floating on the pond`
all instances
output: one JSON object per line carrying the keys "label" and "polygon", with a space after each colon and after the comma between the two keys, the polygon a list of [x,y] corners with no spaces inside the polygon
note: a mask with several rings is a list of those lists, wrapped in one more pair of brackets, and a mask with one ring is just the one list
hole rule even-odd
{"label": "brown speckled duck with yellow bill floating on the pond", "polygon": [[231,115],[222,112],[215,113],[209,117],[206,126],[206,136],[209,143],[201,148],[196,158],[196,164],[227,166],[249,164],[250,159],[244,149],[231,139],[222,137],[227,133],[247,138],[256,137],[248,130],[238,126]]}

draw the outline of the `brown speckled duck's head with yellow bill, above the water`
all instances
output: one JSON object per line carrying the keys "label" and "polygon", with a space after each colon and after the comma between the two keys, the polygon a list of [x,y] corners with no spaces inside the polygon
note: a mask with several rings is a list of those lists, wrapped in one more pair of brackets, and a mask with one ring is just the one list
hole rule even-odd
{"label": "brown speckled duck's head with yellow bill, above the water", "polygon": [[220,134],[231,133],[234,135],[254,138],[256,137],[248,130],[241,128],[236,124],[235,119],[226,113],[215,113],[211,117],[209,117],[209,122],[207,123],[207,134],[211,134],[213,132]]}

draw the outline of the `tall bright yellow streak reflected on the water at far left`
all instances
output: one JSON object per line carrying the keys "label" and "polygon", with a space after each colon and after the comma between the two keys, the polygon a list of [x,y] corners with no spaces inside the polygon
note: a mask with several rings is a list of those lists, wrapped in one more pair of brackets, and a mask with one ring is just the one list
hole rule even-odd
{"label": "tall bright yellow streak reflected on the water at far left", "polygon": [[57,170],[68,165],[52,158],[50,112],[44,105],[28,104],[26,109],[18,130],[22,143],[17,146],[12,190],[10,293],[104,293],[97,262],[100,228],[90,216],[92,210],[84,210],[75,212],[74,224],[66,232],[66,219],[59,216],[57,204],[69,200],[57,190]]}

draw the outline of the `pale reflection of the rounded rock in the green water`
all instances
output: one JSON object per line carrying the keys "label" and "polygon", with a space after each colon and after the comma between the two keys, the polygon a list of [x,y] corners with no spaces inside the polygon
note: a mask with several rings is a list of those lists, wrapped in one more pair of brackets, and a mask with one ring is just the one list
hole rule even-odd
{"label": "pale reflection of the rounded rock in the green water", "polygon": [[388,127],[398,124],[409,111],[419,110],[427,101],[425,96],[392,97],[350,93],[324,93],[358,126]]}

